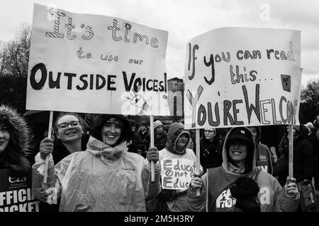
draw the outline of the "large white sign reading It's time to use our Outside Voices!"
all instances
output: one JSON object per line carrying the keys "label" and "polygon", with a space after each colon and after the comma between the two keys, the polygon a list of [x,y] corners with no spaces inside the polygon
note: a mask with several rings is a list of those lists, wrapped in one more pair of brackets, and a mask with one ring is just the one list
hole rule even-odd
{"label": "large white sign reading It's time to use our Outside Voices!", "polygon": [[168,115],[168,32],[34,4],[26,109]]}

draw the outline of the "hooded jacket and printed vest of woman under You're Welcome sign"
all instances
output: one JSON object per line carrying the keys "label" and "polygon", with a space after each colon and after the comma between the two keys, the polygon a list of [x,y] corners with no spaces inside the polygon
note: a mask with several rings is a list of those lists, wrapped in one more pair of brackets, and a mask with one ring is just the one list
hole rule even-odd
{"label": "hooded jacket and printed vest of woman under You're Welcome sign", "polygon": [[[196,190],[189,186],[187,193],[188,210],[196,212],[205,210],[209,212],[234,212],[236,199],[231,196],[229,188],[236,179],[245,176],[255,179],[259,186],[258,198],[262,212],[296,211],[299,197],[296,199],[289,197],[271,174],[257,169],[255,157],[252,158],[252,170],[250,172],[246,174],[236,173],[239,169],[230,165],[226,153],[228,137],[234,129],[235,128],[230,129],[225,137],[223,145],[223,165],[208,169],[208,172],[203,174],[203,186],[200,196],[196,196]],[[252,142],[254,142],[252,133],[251,137]]]}

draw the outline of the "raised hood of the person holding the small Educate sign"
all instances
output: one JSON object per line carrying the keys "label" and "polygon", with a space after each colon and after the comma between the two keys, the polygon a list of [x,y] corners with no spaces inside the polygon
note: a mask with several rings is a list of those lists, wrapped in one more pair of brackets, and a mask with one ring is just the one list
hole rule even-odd
{"label": "raised hood of the person holding the small Educate sign", "polygon": [[189,134],[189,131],[184,130],[184,124],[181,124],[180,122],[174,122],[169,126],[169,129],[167,131],[167,143],[165,147],[169,152],[177,155],[184,155],[188,143],[185,145],[181,153],[178,153],[176,150],[177,139],[179,138],[179,136],[181,136],[181,134],[186,134],[188,135],[189,139],[191,138],[191,134]]}

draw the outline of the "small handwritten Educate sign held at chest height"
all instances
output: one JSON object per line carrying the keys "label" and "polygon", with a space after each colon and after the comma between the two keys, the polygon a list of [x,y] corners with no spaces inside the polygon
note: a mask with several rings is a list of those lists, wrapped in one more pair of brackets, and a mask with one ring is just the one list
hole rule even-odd
{"label": "small handwritten Educate sign held at chest height", "polygon": [[161,161],[162,188],[187,189],[196,170],[195,163],[184,158],[164,158]]}

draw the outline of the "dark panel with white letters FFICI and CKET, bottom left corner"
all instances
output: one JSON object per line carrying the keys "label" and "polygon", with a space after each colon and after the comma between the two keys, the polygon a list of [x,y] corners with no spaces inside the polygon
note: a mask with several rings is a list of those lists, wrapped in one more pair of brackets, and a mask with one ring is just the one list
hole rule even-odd
{"label": "dark panel with white letters FFICI and CKET, bottom left corner", "polygon": [[11,169],[0,169],[0,212],[52,212],[57,208],[33,196],[31,176],[21,177]]}

